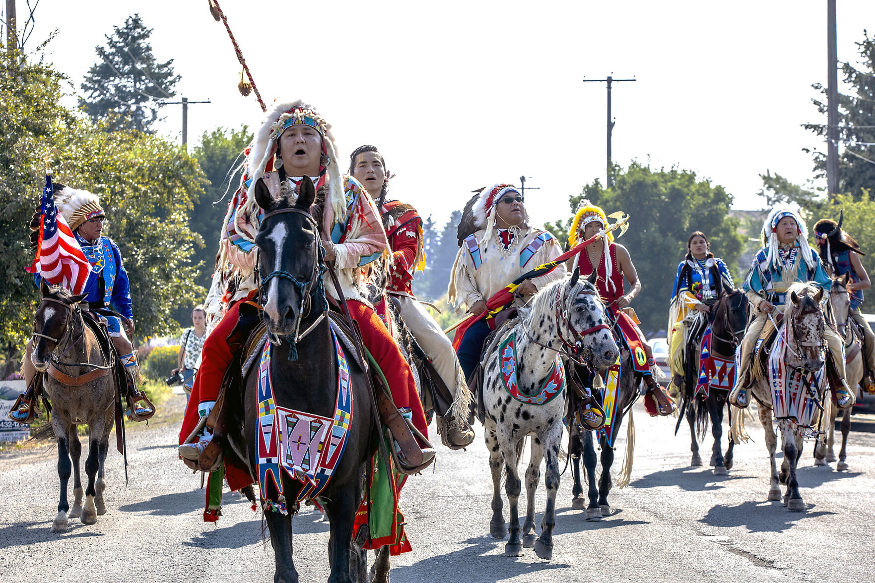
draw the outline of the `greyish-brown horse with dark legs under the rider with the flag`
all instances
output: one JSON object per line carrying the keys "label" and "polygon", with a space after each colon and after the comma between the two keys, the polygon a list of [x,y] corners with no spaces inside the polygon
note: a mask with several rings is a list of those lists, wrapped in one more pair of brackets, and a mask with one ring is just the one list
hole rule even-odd
{"label": "greyish-brown horse with dark legs under the rider with the flag", "polygon": [[[58,475],[60,501],[52,532],[66,531],[69,518],[79,517],[84,524],[95,524],[106,513],[103,500],[103,464],[109,450],[109,432],[115,420],[116,382],[113,356],[102,349],[94,330],[82,316],[79,302],[85,295],[71,295],[66,289],[49,287],[43,282],[43,298],[33,322],[31,362],[44,376],[45,392],[52,400],[51,428],[58,440]],[[52,371],[49,368],[52,367]],[[65,378],[61,382],[54,377]],[[96,378],[94,378],[96,377]],[[92,378],[89,380],[89,378]],[[85,382],[82,382],[85,381]],[[88,486],[82,505],[82,481],[79,459],[82,445],[78,426],[88,425],[88,459],[85,472]],[[71,464],[71,458],[73,462]],[[66,498],[70,470],[73,469],[73,509]]]}

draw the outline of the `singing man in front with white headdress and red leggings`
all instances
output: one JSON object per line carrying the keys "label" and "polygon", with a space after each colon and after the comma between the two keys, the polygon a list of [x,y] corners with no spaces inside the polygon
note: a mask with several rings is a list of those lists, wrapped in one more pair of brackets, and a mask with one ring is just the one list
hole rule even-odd
{"label": "singing man in front with white headdress and red leggings", "polygon": [[[387,378],[395,406],[409,407],[413,425],[427,435],[425,413],[409,364],[361,289],[370,276],[371,263],[388,253],[386,233],[367,191],[354,178],[340,174],[331,126],[302,101],[285,103],[269,113],[247,154],[241,188],[228,206],[223,223],[221,267],[211,290],[211,295],[217,298],[216,286],[225,286],[227,291],[221,298],[228,305],[204,343],[201,367],[179,434],[179,455],[197,460],[212,441],[213,434],[205,425],[200,439],[185,443],[200,419],[207,417],[215,406],[222,378],[235,357],[228,337],[235,332],[241,305],[257,300],[256,257],[252,250],[256,248],[255,234],[263,212],[255,203],[256,181],[262,180],[270,195],[279,198],[285,193],[297,193],[305,176],[312,177],[316,186],[311,213],[319,224],[325,260],[337,270],[346,308],[359,326],[362,342]],[[226,271],[235,277],[223,282],[220,275]],[[331,281],[325,281],[325,292],[334,302],[339,301],[338,290]],[[270,310],[271,306],[264,309]],[[219,310],[209,307],[207,312],[216,314]],[[242,338],[239,342],[244,341]],[[251,482],[248,477],[230,472],[228,480],[232,489]]]}

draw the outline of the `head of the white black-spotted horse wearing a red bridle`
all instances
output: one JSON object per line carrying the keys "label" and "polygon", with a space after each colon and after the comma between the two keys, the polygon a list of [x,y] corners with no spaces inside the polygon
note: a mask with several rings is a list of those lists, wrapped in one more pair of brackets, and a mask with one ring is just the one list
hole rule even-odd
{"label": "head of the white black-spotted horse wearing a red bridle", "polygon": [[[570,278],[553,285],[555,288],[545,288],[544,292],[552,291],[552,297],[546,297],[545,301],[552,300],[549,303],[555,313],[558,339],[572,356],[594,369],[614,364],[620,349],[607,322],[605,305],[598,298],[592,281],[581,278],[577,267]],[[543,308],[549,309],[547,305]]]}

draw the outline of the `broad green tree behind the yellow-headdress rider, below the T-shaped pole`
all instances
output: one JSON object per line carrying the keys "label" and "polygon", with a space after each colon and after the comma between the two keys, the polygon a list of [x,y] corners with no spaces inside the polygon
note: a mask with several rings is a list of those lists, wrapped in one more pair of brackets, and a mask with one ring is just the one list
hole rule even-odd
{"label": "broad green tree behind the yellow-headdress rider, below the T-shaped pole", "polygon": [[730,269],[743,247],[738,220],[728,216],[732,195],[690,170],[652,170],[633,162],[626,170],[617,167],[610,189],[598,180],[586,184],[580,195],[570,197],[571,212],[584,198],[607,214],[622,210],[630,216],[630,228],[618,242],[629,250],[641,280],[641,295],[632,305],[643,330],[666,326],[671,287],[690,233],[707,234],[712,251]]}

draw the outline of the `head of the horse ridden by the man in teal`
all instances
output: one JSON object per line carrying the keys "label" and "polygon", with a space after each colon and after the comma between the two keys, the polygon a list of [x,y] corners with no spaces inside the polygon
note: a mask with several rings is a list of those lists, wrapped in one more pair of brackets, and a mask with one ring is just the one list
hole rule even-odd
{"label": "head of the horse ridden by the man in teal", "polygon": [[790,302],[784,312],[788,329],[787,364],[806,371],[819,371],[823,366],[823,329],[826,321],[820,302],[823,288],[810,284],[790,287]]}

